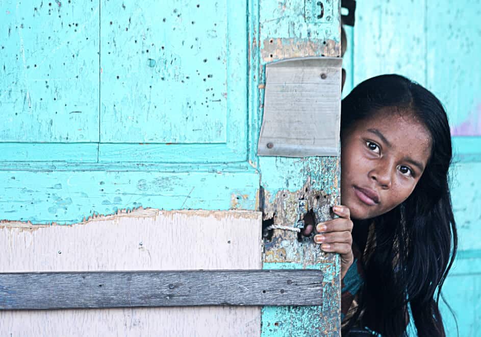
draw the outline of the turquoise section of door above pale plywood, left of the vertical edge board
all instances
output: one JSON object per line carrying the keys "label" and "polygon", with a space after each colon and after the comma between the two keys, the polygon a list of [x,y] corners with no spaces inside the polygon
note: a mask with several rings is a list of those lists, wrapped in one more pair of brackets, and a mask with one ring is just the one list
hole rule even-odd
{"label": "turquoise section of door above pale plywood, left of the vertical edge board", "polygon": [[250,3],[2,5],[0,219],[257,210]]}

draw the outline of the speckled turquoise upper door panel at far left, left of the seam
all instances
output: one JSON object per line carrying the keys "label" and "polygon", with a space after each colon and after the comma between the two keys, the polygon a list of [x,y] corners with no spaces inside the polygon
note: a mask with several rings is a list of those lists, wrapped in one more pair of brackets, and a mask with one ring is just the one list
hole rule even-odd
{"label": "speckled turquoise upper door panel at far left, left of the seam", "polygon": [[98,2],[2,7],[0,141],[98,141]]}

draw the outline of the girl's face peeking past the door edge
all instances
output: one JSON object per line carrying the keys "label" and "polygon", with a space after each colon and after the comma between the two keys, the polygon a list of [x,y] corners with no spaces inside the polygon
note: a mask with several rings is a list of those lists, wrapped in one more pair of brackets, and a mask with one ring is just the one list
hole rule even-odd
{"label": "girl's face peeking past the door edge", "polygon": [[410,111],[382,108],[342,134],[341,203],[370,219],[406,200],[431,154],[429,132]]}

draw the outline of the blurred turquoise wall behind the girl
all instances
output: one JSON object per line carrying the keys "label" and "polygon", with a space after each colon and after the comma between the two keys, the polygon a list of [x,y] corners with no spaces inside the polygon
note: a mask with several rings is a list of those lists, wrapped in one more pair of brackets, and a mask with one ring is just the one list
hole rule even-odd
{"label": "blurred turquoise wall behind the girl", "polygon": [[[452,201],[459,255],[444,294],[460,336],[481,335],[481,1],[359,0],[347,28],[344,95],[369,77],[398,73],[432,90],[449,115]],[[456,327],[442,306],[448,335]]]}

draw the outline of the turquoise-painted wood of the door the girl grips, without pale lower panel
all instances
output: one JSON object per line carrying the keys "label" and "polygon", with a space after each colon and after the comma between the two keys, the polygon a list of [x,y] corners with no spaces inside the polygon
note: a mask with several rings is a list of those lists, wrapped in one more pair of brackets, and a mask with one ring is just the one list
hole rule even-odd
{"label": "turquoise-painted wood of the door the girl grips, without pale lower panel", "polygon": [[[7,0],[0,16],[4,223],[142,207],[295,225],[301,198],[336,202],[337,156],[260,158],[257,142],[265,65],[340,56],[340,1]],[[264,268],[321,268],[325,298],[263,308],[259,333],[336,335],[338,258],[272,234]]]}

